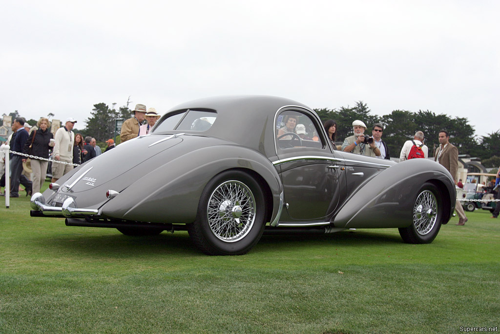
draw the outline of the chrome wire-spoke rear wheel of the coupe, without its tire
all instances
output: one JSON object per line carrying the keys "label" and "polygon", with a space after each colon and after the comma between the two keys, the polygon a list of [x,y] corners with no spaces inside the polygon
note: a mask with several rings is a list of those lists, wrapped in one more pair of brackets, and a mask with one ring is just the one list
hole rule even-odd
{"label": "chrome wire-spoke rear wheel of the coupe, without its tire", "polygon": [[255,198],[244,183],[229,180],[212,192],[206,211],[213,234],[222,241],[235,242],[244,238],[253,226]]}

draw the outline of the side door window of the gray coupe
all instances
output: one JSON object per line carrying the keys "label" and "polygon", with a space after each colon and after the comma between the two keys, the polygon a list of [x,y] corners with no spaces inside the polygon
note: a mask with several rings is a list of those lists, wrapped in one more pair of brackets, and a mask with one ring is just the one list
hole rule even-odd
{"label": "side door window of the gray coupe", "polygon": [[276,145],[288,148],[324,148],[319,131],[308,115],[298,111],[283,111],[276,120]]}

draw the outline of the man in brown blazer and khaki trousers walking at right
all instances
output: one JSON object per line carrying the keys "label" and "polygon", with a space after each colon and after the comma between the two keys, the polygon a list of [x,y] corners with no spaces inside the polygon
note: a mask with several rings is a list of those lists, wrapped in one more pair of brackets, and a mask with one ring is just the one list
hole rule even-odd
{"label": "man in brown blazer and khaki trousers walking at right", "polygon": [[[449,133],[447,131],[439,131],[439,149],[434,155],[434,161],[438,162],[448,170],[456,184],[456,172],[458,171],[458,149],[449,142]],[[460,217],[458,219],[458,224],[456,225],[465,225],[465,222],[468,219],[467,216],[465,216],[465,212],[463,212],[463,208],[459,200],[456,200],[455,211]]]}

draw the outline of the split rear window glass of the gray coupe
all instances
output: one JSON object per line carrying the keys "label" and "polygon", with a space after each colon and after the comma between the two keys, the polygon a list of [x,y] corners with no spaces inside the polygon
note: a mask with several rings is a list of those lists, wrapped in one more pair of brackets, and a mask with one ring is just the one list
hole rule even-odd
{"label": "split rear window glass of the gray coupe", "polygon": [[165,132],[170,130],[181,131],[206,131],[208,130],[215,119],[217,113],[215,111],[204,110],[184,110],[172,114],[160,120],[153,129],[154,132]]}

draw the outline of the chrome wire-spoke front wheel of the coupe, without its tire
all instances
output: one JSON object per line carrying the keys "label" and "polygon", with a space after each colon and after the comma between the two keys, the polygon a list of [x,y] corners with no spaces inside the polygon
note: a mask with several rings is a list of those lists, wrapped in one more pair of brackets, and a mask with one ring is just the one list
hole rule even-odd
{"label": "chrome wire-spoke front wheel of the coupe, without its tire", "polygon": [[425,235],[434,227],[437,219],[437,200],[429,190],[416,197],[413,207],[413,225],[418,234]]}

